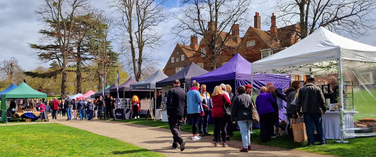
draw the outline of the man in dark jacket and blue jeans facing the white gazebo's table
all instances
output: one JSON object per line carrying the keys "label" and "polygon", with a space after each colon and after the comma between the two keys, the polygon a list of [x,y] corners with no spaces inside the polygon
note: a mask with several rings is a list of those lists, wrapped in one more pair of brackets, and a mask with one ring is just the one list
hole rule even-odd
{"label": "man in dark jacket and blue jeans facing the white gazebo's table", "polygon": [[[309,146],[315,143],[313,125],[316,126],[317,139],[320,145],[326,144],[323,119],[321,118],[321,114],[326,111],[324,94],[314,83],[315,79],[308,77],[307,84],[300,88],[297,99],[297,111],[299,112],[299,116],[303,113]],[[302,109],[303,112],[300,112],[300,109]]]}

